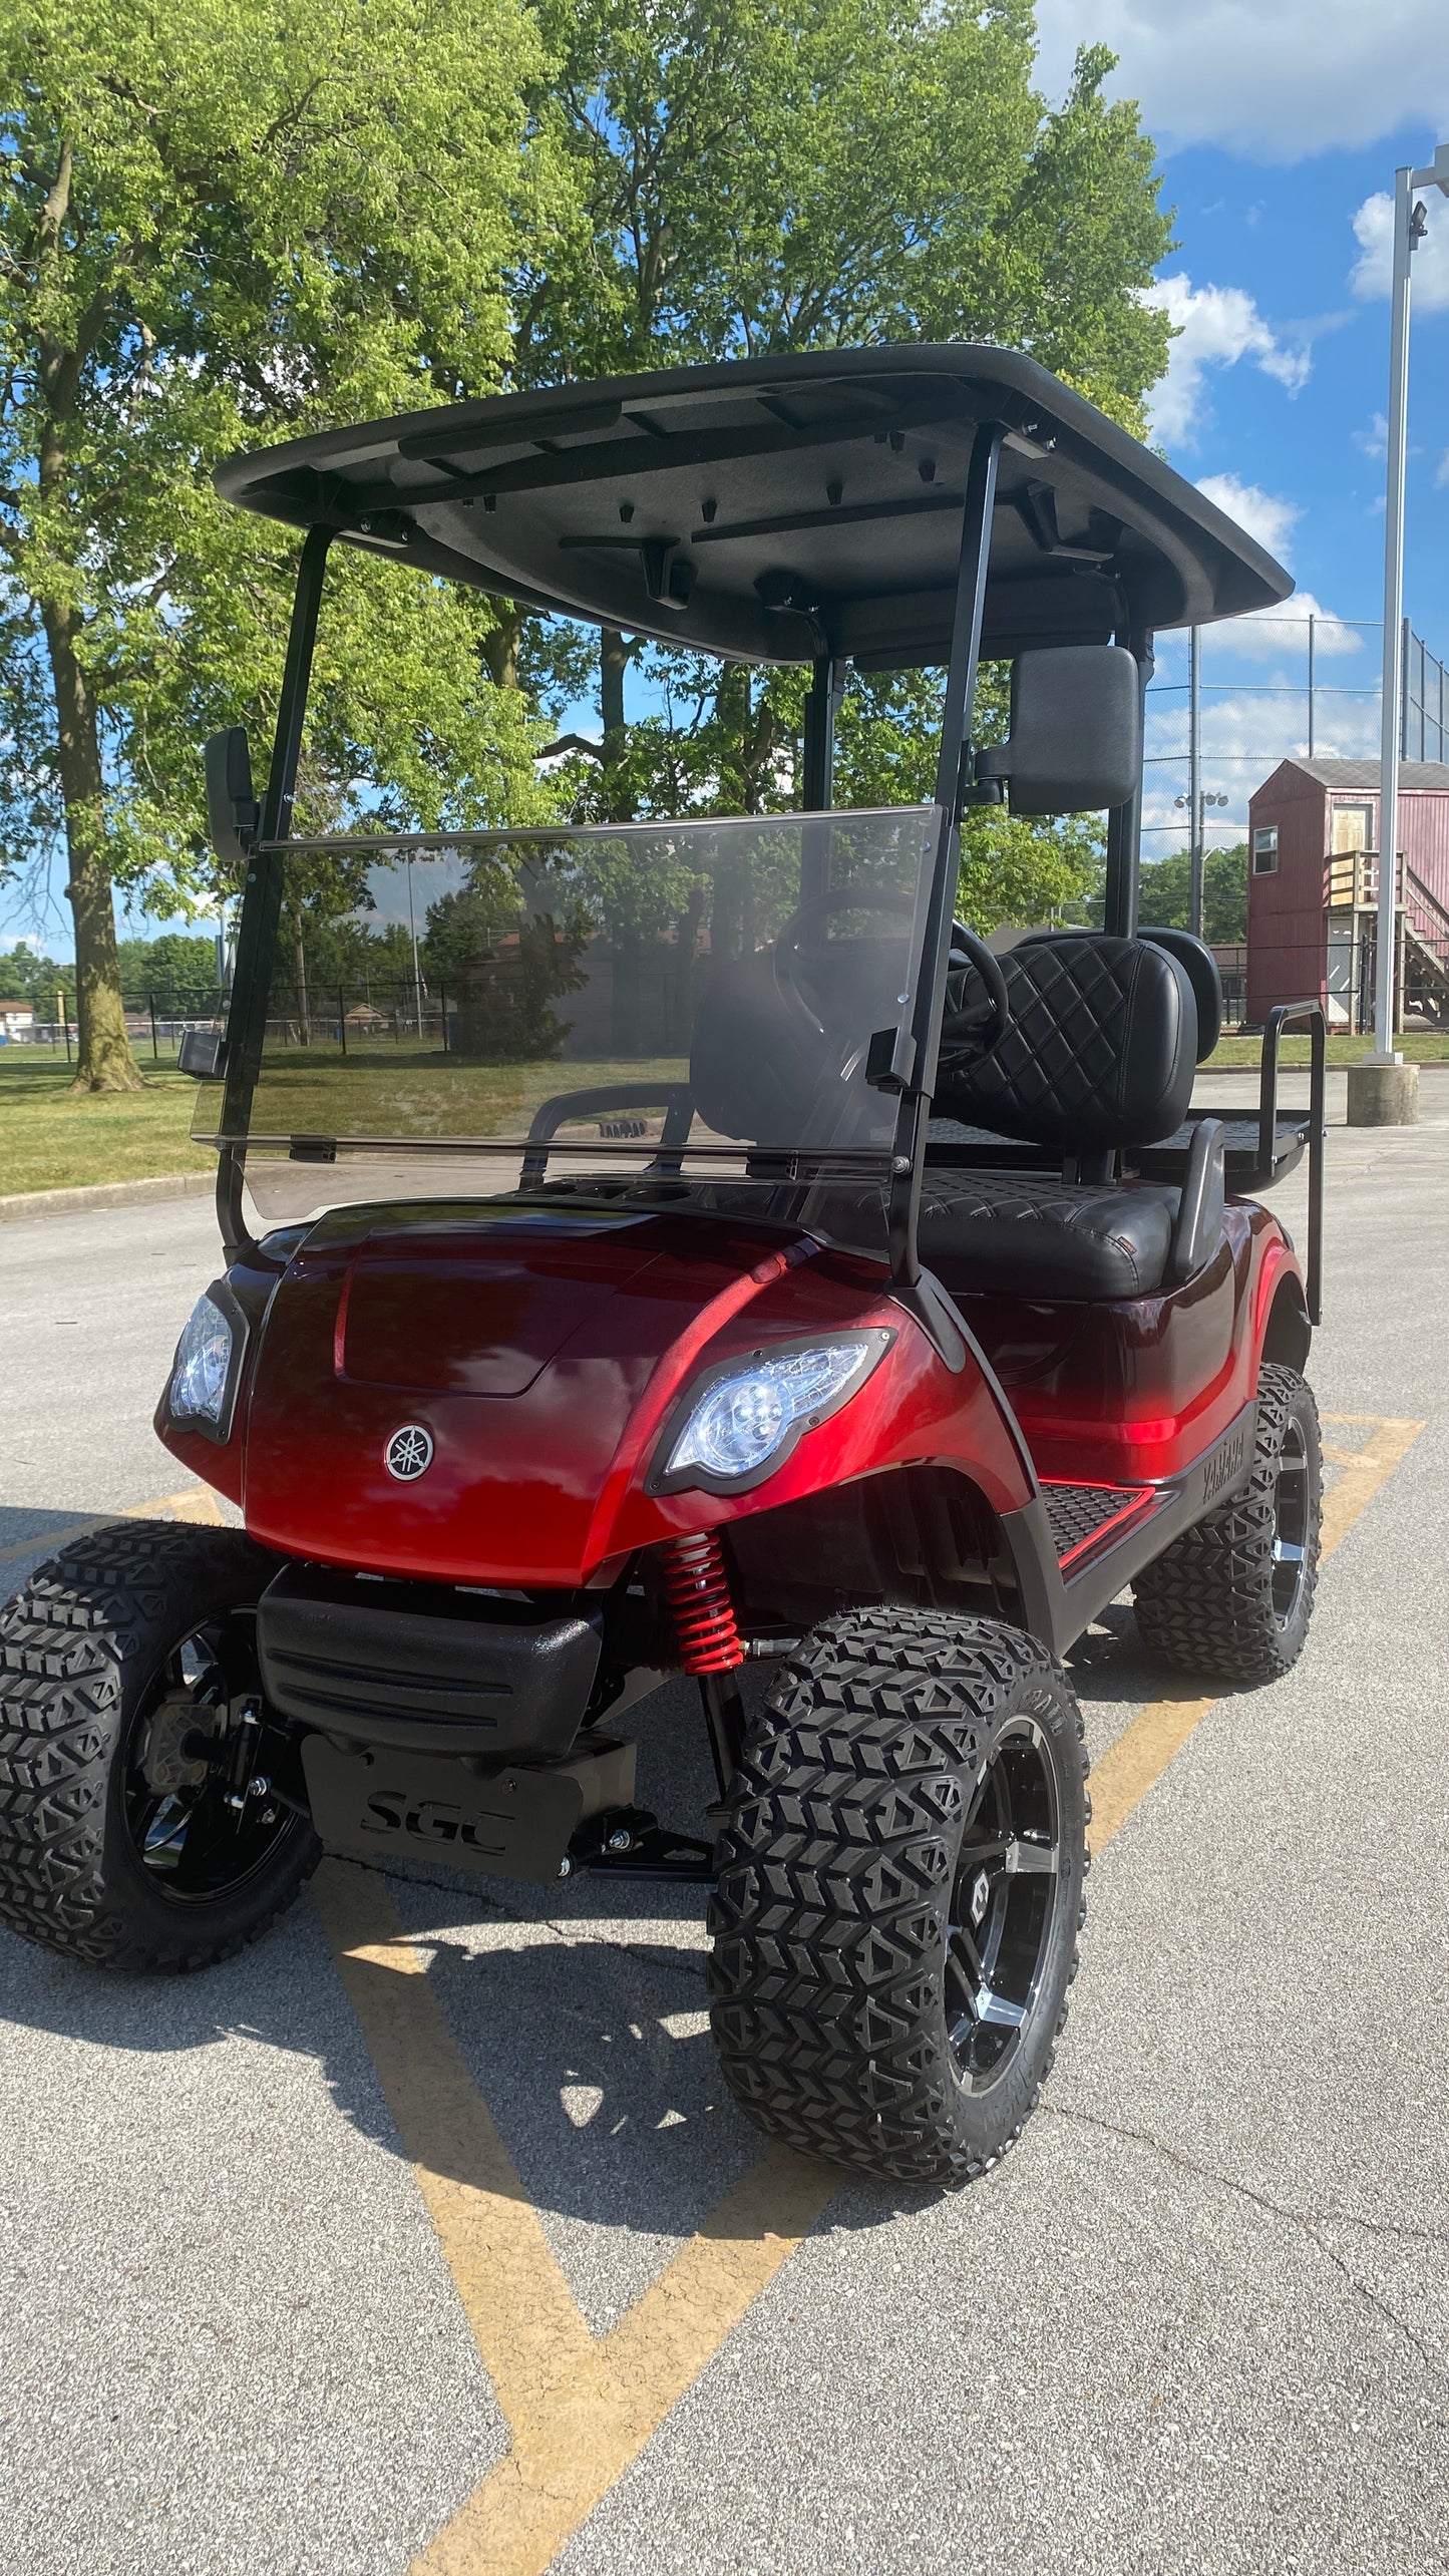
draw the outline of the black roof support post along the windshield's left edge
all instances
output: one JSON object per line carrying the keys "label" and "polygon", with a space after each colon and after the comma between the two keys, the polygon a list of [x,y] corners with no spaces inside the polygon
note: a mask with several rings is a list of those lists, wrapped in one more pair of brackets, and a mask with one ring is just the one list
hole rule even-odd
{"label": "black roof support post along the windshield's left edge", "polygon": [[[271,994],[276,927],[281,920],[281,891],[286,876],[286,860],[281,853],[268,853],[266,842],[286,840],[291,832],[297,762],[302,757],[302,724],[307,719],[307,683],[312,680],[317,611],[322,605],[322,574],[327,572],[333,533],[333,528],[309,528],[302,546],[302,562],[297,567],[291,631],[286,636],[281,696],[276,701],[276,739],[260,801],[258,850],[248,866],[242,917],[237,927],[237,966],[232,974],[232,1007],[227,1015],[227,1092],[222,1105],[222,1131],[227,1136],[245,1136],[253,1090],[260,1074],[266,1005]],[[248,1221],[242,1216],[242,1164],[245,1146],[224,1144],[217,1170],[217,1218],[227,1260],[235,1260],[250,1242]]]}

